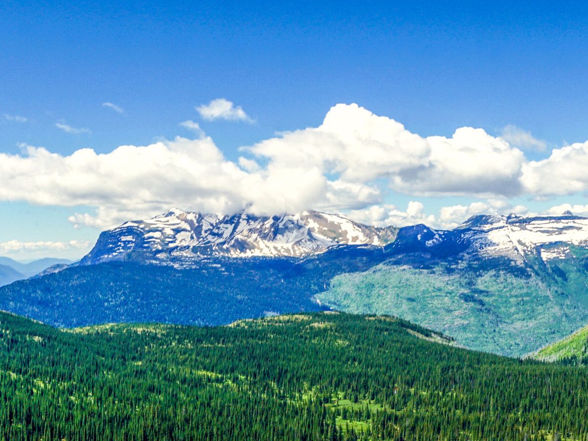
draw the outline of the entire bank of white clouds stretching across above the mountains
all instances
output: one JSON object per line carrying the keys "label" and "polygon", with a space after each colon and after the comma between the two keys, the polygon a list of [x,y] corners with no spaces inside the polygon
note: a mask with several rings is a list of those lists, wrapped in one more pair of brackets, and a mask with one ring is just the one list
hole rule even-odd
{"label": "entire bank of white clouds stretching across above the mountains", "polygon": [[[245,115],[228,103],[229,113]],[[204,115],[223,118],[214,116],[222,113],[212,111],[215,106],[204,106]],[[256,214],[312,208],[348,212],[369,223],[449,226],[478,212],[524,212],[524,207],[496,202],[512,196],[572,195],[588,188],[588,142],[529,161],[503,136],[483,129],[463,127],[450,138],[425,138],[355,104],[333,106],[318,127],[244,148],[235,162],[225,158],[198,123],[181,126],[198,138],[124,145],[105,154],[80,149],[62,156],[32,146],[21,155],[0,153],[0,201],[92,206],[95,213],[74,213],[69,220],[101,229],[172,206]],[[430,218],[417,201],[406,209],[386,204],[390,191],[487,202],[447,207]]]}

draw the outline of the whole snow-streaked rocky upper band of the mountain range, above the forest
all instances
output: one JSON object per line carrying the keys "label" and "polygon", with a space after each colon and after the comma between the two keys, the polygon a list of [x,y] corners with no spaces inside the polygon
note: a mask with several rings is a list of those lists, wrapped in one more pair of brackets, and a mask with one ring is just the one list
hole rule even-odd
{"label": "whole snow-streaked rocky upper band of the mountain range, above the forest", "polygon": [[303,258],[341,245],[383,247],[392,255],[529,256],[565,258],[570,246],[588,248],[588,219],[560,216],[477,215],[452,230],[426,225],[377,228],[316,211],[285,216],[211,215],[171,210],[103,232],[81,265],[132,260],[190,266],[206,258]]}

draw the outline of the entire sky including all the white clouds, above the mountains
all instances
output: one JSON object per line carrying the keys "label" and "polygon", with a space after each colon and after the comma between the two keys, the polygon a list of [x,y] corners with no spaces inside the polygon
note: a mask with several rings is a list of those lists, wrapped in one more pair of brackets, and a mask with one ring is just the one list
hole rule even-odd
{"label": "entire sky including all the white clouds, above the mountains", "polygon": [[588,215],[582,2],[0,4],[0,255],[125,220]]}

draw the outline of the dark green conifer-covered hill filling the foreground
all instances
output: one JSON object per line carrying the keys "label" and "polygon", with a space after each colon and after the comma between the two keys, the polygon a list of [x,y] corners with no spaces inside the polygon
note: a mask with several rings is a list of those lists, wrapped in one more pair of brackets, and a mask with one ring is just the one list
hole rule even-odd
{"label": "dark green conifer-covered hill filling the foreground", "polygon": [[388,316],[58,330],[2,313],[0,330],[4,439],[588,437],[586,368],[471,352]]}

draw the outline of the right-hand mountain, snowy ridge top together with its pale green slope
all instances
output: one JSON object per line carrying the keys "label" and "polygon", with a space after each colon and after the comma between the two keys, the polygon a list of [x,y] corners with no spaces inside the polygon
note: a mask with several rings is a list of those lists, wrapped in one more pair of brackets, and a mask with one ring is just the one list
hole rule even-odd
{"label": "right-hand mountain, snowy ridge top together with its pale green slope", "polygon": [[588,220],[473,216],[456,229],[400,229],[393,256],[330,280],[315,298],[388,313],[468,348],[521,356],[588,323]]}

